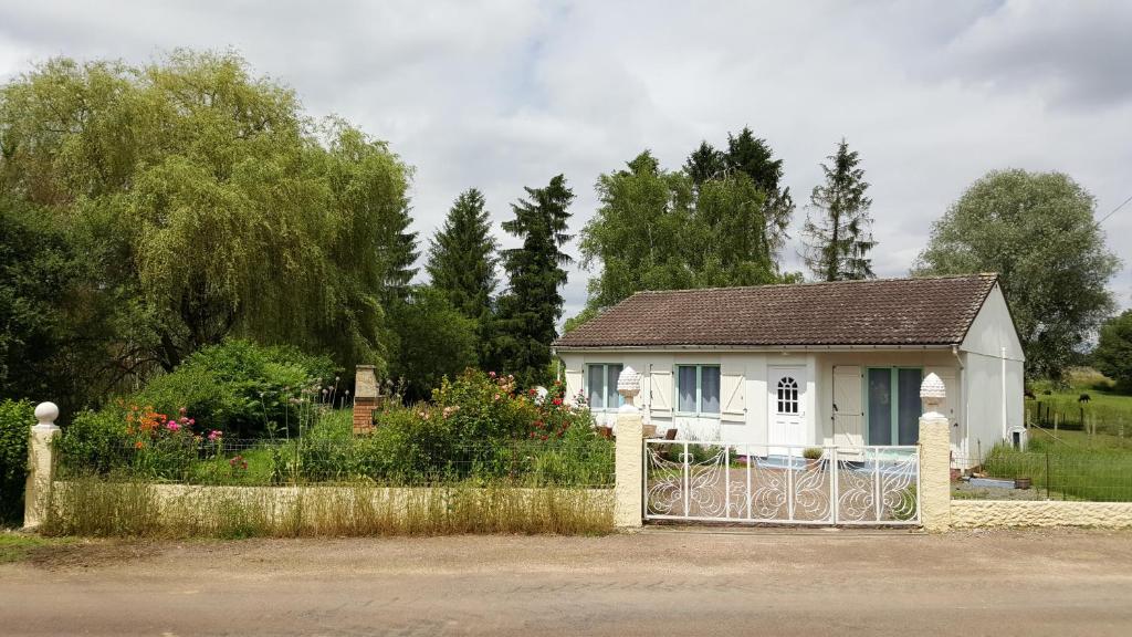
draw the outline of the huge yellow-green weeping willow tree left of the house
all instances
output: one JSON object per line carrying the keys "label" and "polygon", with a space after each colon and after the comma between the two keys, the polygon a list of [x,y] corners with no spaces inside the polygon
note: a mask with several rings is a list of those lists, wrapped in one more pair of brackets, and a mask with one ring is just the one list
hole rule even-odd
{"label": "huge yellow-green weeping willow tree left of the house", "polygon": [[409,179],[234,53],[54,59],[0,88],[0,196],[67,228],[87,267],[63,309],[110,326],[119,376],[226,336],[381,363]]}

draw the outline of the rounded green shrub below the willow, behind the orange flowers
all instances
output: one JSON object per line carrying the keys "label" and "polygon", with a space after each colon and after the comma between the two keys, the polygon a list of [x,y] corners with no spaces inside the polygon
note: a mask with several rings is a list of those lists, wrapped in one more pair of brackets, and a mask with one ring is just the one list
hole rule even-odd
{"label": "rounded green shrub below the willow, behind the orange flowers", "polygon": [[329,358],[302,354],[293,347],[264,347],[229,340],[189,356],[172,373],[154,379],[131,398],[157,411],[175,414],[187,408],[205,427],[230,438],[273,435],[278,430],[297,433],[301,407],[295,400],[305,390],[331,388],[336,398],[335,373]]}

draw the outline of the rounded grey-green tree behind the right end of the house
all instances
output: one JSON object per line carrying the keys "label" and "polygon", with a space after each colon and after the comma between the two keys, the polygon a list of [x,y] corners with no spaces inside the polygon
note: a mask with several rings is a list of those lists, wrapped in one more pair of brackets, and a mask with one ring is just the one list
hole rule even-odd
{"label": "rounded grey-green tree behind the right end of the house", "polygon": [[932,229],[914,273],[997,272],[1027,358],[1027,375],[1061,379],[1114,305],[1120,260],[1105,248],[1096,203],[1060,172],[992,171]]}

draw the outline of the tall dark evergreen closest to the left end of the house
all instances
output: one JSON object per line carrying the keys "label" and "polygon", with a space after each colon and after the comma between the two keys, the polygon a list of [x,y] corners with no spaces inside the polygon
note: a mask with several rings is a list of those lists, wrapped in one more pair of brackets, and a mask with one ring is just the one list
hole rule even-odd
{"label": "tall dark evergreen closest to the left end of the house", "polygon": [[496,349],[500,370],[515,375],[520,385],[546,382],[550,370],[550,341],[561,316],[559,288],[566,282],[572,260],[561,252],[567,207],[574,193],[561,175],[544,188],[524,188],[528,198],[512,205],[515,219],[504,230],[522,239],[518,248],[504,250],[509,290],[499,299],[499,336]]}

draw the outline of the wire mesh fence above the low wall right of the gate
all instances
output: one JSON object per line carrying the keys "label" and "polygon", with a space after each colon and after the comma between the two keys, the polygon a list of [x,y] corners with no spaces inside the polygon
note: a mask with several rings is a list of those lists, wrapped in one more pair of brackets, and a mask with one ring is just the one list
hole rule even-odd
{"label": "wire mesh fence above the low wall right of the gate", "polygon": [[984,458],[953,458],[952,473],[955,499],[1132,502],[1129,453],[997,447]]}

